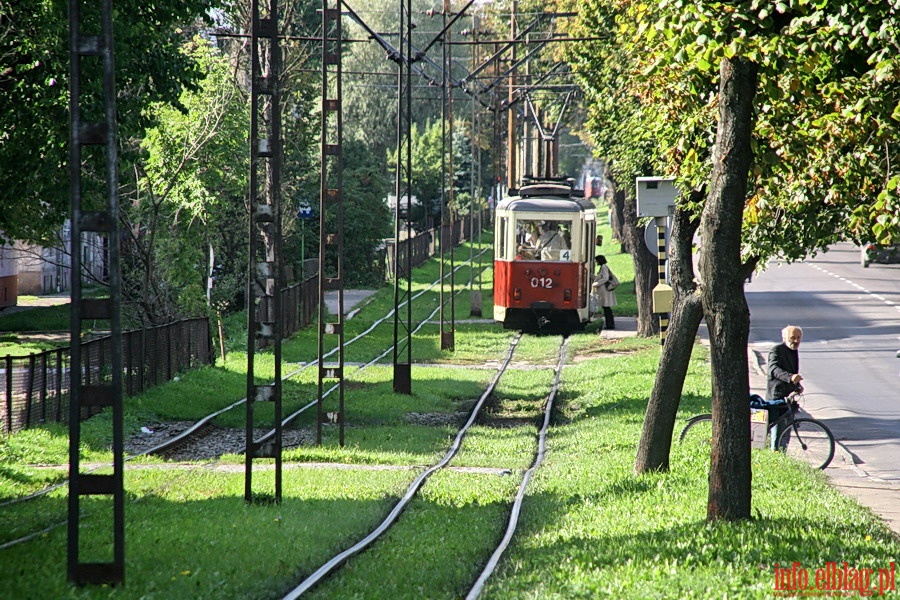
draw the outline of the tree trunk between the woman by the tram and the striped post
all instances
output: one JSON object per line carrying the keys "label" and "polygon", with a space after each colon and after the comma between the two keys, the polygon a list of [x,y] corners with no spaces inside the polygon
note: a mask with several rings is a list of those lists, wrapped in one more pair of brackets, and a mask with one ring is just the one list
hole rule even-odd
{"label": "tree trunk between the woman by the tram and the striped post", "polygon": [[[616,192],[619,194],[621,192]],[[636,199],[622,203],[622,239],[634,262],[634,293],[637,295],[637,334],[652,337],[659,334],[659,321],[653,318],[653,288],[659,283],[656,254],[644,243],[644,230],[638,227]]]}

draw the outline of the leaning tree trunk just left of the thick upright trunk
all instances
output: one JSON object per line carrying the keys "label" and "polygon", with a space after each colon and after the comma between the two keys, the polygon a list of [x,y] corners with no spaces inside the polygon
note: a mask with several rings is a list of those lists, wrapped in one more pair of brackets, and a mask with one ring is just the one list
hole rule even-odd
{"label": "leaning tree trunk just left of the thick upright trunk", "polygon": [[[702,198],[700,192],[694,192],[692,196],[692,203],[697,203]],[[676,208],[669,241],[669,274],[674,291],[672,315],[644,416],[644,429],[634,462],[636,473],[669,469],[669,452],[672,449],[681,391],[690,365],[697,329],[703,318],[703,305],[694,282],[691,253],[698,225],[698,220],[691,214],[680,207]]]}

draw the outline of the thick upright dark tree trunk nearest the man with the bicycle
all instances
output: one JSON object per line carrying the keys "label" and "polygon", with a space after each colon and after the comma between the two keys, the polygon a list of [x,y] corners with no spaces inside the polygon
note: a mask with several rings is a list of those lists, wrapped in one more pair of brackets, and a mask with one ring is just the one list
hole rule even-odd
{"label": "thick upright dark tree trunk nearest the man with the bicycle", "polygon": [[703,312],[712,358],[713,443],[707,519],[750,517],[750,427],[741,220],[752,160],[757,66],[725,59],[719,69],[719,123],[709,198],[701,220]]}

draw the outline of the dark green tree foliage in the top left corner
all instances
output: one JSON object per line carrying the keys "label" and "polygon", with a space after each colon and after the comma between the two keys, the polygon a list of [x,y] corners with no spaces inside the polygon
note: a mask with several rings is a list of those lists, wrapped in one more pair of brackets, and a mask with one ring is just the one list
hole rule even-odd
{"label": "dark green tree foliage in the top left corner", "polygon": [[[179,52],[208,0],[117,2],[114,11],[118,128],[125,139],[152,125],[147,107],[177,104],[201,76]],[[69,209],[68,4],[0,2],[0,231],[52,240]],[[85,85],[85,101],[97,88]],[[127,160],[127,155],[123,156]]]}

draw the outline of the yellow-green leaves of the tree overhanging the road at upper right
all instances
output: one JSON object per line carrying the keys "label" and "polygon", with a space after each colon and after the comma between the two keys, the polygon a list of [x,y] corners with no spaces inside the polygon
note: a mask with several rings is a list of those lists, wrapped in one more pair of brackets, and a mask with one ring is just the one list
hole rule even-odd
{"label": "yellow-green leaves of the tree overhanging the road at upper right", "polygon": [[760,73],[746,251],[792,259],[898,235],[896,203],[875,200],[900,164],[900,16],[886,3],[588,4],[616,25],[615,40],[580,54],[593,69],[589,126],[622,180],[652,165],[707,182],[719,64],[744,56]]}

